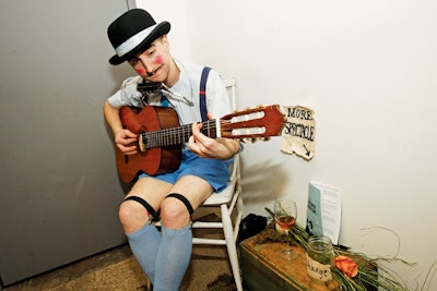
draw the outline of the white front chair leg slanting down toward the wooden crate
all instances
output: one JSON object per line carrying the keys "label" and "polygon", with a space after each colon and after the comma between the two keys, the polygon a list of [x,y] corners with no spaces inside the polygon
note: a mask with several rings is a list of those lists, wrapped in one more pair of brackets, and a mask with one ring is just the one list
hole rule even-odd
{"label": "white front chair leg slanting down toward the wooden crate", "polygon": [[238,254],[235,245],[234,229],[232,226],[231,214],[226,205],[221,205],[223,231],[226,240],[227,255],[231,260],[231,268],[234,275],[235,284],[238,291],[243,291],[241,276],[239,272]]}

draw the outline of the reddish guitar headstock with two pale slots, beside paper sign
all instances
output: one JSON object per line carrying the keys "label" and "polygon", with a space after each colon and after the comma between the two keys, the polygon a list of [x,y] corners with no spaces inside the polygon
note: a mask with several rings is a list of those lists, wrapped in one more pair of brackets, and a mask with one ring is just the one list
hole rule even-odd
{"label": "reddish guitar headstock with two pale slots, beside paper sign", "polygon": [[221,119],[221,136],[261,138],[281,135],[285,116],[279,105],[259,106],[227,114]]}

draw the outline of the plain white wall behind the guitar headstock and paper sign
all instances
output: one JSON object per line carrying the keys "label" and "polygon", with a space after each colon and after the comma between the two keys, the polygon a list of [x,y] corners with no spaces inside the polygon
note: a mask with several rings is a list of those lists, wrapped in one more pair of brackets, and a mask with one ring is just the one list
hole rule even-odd
{"label": "plain white wall behind the guitar headstock and paper sign", "polygon": [[[304,225],[308,182],[340,187],[341,243],[394,255],[395,232],[399,256],[417,265],[390,267],[421,287],[437,260],[437,2],[166,0],[149,9],[174,22],[172,38],[182,26],[175,56],[237,77],[239,108],[316,112],[309,162],[282,154],[280,138],[246,146],[246,213],[267,215],[286,196]],[[391,231],[364,230],[373,227]],[[433,275],[424,290],[437,290]]]}

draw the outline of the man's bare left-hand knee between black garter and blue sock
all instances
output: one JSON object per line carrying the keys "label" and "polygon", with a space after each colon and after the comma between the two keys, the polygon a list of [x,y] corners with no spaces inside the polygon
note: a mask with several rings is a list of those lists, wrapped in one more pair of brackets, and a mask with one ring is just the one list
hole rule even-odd
{"label": "man's bare left-hand knee between black garter and blue sock", "polygon": [[149,222],[149,214],[144,207],[131,201],[121,203],[118,216],[127,233],[135,232]]}

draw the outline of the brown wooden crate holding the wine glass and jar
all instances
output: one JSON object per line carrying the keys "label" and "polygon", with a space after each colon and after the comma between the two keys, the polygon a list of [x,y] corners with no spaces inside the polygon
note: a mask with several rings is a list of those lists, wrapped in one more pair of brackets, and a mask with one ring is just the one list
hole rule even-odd
{"label": "brown wooden crate holding the wine glass and jar", "polygon": [[[286,247],[284,243],[257,244],[256,239],[257,235],[240,243],[243,283],[247,291],[338,290],[336,282],[317,282],[307,275],[306,253],[302,247],[292,246],[297,257],[285,260],[281,258]],[[367,287],[367,290],[375,288]]]}

